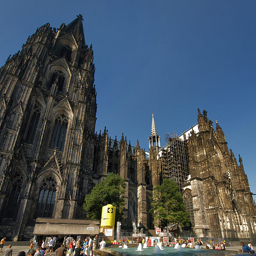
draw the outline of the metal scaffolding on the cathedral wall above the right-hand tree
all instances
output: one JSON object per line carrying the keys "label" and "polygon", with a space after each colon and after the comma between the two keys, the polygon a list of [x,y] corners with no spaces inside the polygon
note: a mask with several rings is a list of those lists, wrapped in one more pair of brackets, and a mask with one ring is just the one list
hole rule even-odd
{"label": "metal scaffolding on the cathedral wall above the right-hand tree", "polygon": [[171,137],[166,134],[166,142],[162,151],[162,177],[174,180],[183,193],[183,184],[189,175],[187,142],[178,138],[176,133]]}

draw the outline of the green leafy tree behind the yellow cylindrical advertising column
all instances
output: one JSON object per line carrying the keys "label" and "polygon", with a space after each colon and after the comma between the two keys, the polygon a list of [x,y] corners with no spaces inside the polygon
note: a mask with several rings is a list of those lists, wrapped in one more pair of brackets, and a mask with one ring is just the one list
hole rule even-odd
{"label": "green leafy tree behind the yellow cylindrical advertising column", "polygon": [[92,220],[101,219],[101,210],[104,205],[112,204],[115,209],[115,219],[121,221],[123,218],[123,207],[125,199],[125,181],[117,174],[110,173],[105,180],[97,184],[90,194],[85,196],[83,205],[86,217]]}

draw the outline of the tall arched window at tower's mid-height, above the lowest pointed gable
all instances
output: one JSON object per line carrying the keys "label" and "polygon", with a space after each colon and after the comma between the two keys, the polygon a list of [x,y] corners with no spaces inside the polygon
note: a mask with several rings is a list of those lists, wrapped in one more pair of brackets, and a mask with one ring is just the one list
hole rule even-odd
{"label": "tall arched window at tower's mid-height, above the lowest pointed gable", "polygon": [[65,117],[64,114],[57,115],[55,119],[55,125],[53,127],[50,148],[57,147],[61,151],[64,150],[67,128],[68,128],[67,117]]}

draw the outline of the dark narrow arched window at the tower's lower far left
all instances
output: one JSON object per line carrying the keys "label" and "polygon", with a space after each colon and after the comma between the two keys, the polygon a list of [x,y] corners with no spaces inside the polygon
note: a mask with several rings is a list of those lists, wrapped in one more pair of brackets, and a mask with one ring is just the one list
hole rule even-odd
{"label": "dark narrow arched window at the tower's lower far left", "polygon": [[9,202],[6,208],[5,217],[6,218],[16,218],[16,213],[19,209],[20,197],[22,192],[23,179],[20,172],[15,172],[13,181],[11,182],[13,187],[9,195]]}

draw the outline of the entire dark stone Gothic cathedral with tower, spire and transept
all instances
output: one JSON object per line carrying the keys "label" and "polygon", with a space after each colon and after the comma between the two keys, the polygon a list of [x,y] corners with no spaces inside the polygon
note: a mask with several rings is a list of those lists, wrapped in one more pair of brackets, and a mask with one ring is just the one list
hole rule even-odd
{"label": "entire dark stone Gothic cathedral with tower, spire and transept", "polygon": [[174,179],[196,236],[255,236],[242,159],[238,165],[206,111],[164,147],[152,115],[149,152],[106,128],[95,133],[93,49],[82,20],[38,28],[0,69],[0,236],[27,240],[38,217],[84,219],[85,195],[110,172],[126,183],[122,229],[154,229],[152,189]]}

